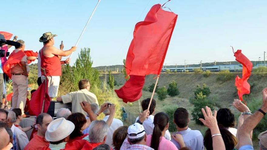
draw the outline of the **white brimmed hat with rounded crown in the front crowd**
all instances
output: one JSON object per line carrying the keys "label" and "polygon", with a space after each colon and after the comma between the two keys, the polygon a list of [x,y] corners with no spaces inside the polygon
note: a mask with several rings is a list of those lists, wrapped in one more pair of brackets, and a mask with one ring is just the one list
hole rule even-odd
{"label": "white brimmed hat with rounded crown in the front crowd", "polygon": [[49,123],[46,130],[46,140],[57,142],[73,132],[75,125],[65,118],[58,118]]}

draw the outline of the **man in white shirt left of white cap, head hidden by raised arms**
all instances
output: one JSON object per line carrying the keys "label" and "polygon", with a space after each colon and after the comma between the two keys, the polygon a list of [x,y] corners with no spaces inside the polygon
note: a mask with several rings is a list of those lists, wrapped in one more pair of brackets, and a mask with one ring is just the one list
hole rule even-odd
{"label": "man in white shirt left of white cap, head hidden by raised arms", "polygon": [[[108,104],[111,104],[110,102],[107,102]],[[109,118],[110,116],[110,109],[109,108],[106,108],[103,113],[105,114],[105,117],[103,118],[103,120],[106,122],[107,119]],[[108,134],[107,134],[107,137],[106,137],[106,144],[109,145],[110,147],[113,147],[112,145],[112,136],[113,136],[113,132],[119,128],[123,126],[123,122],[119,119],[116,119],[116,118],[113,118],[112,120],[112,123],[109,127],[109,130],[108,130]]]}

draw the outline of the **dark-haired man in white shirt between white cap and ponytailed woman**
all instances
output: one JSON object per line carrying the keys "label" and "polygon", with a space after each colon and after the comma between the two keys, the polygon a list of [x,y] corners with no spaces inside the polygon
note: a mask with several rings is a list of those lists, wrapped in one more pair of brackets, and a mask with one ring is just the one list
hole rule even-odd
{"label": "dark-haired man in white shirt between white cap and ponytailed woman", "polygon": [[[149,102],[150,102],[150,98],[147,98],[147,99],[144,99],[142,102],[141,102],[141,105],[142,105],[142,109],[143,111],[144,110],[147,110],[148,108],[148,105],[149,105]],[[147,117],[147,119],[143,122],[143,126],[145,128],[145,131],[146,131],[146,134],[147,135],[150,135],[153,133],[153,129],[154,129],[154,112],[155,112],[155,108],[156,108],[156,101],[154,99],[152,99],[152,102],[151,102],[151,105],[150,105],[150,108],[149,108],[149,116]],[[139,117],[136,118],[136,121],[139,119]],[[171,133],[169,132],[169,130],[167,130],[165,132],[165,136],[164,136],[167,140],[171,140]]]}

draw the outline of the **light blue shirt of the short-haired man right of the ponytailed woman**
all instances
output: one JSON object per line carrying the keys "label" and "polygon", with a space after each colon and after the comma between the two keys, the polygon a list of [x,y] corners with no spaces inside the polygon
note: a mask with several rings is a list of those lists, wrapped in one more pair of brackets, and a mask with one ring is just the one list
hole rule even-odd
{"label": "light blue shirt of the short-haired man right of the ponytailed woman", "polygon": [[[203,135],[200,131],[187,128],[186,130],[176,132],[173,135],[175,134],[181,134],[183,136],[184,144],[187,148],[194,150],[204,150]],[[178,149],[181,148],[180,144],[174,139],[171,139],[171,142],[173,142]]]}

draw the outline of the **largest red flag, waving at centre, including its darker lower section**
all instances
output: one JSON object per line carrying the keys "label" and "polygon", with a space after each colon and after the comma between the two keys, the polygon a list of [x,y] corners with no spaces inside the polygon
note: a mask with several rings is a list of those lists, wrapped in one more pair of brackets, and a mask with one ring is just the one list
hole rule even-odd
{"label": "largest red flag, waving at centre, including its darker lower section", "polygon": [[143,22],[135,25],[125,64],[130,80],[115,90],[123,102],[134,102],[142,96],[145,75],[161,73],[176,20],[176,14],[157,4],[152,6]]}

